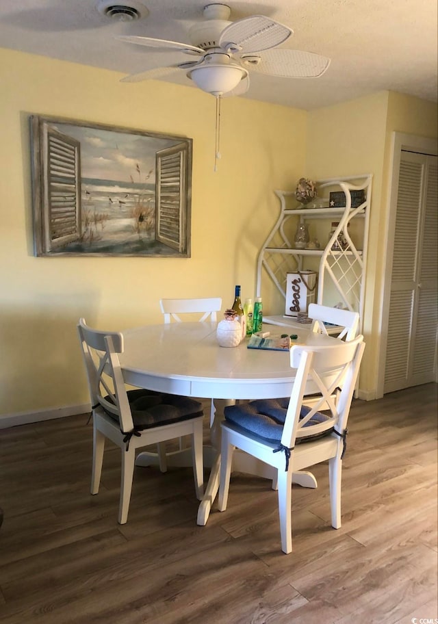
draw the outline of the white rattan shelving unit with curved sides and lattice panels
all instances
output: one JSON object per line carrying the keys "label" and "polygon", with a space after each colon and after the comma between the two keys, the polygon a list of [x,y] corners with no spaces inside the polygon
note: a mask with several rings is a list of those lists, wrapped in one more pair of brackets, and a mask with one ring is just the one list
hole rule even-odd
{"label": "white rattan shelving unit with curved sides and lattice panels", "polygon": [[[365,295],[365,267],[368,246],[368,224],[370,219],[370,200],[372,174],[364,174],[344,179],[327,179],[317,183],[318,197],[315,204],[318,207],[289,207],[292,202],[297,205],[294,191],[276,190],[275,194],[280,201],[280,214],[264,242],[257,259],[257,296],[262,296],[262,278],[266,274],[286,298],[286,275],[297,271],[311,269],[318,270],[318,296],[320,304],[334,304],[326,301],[327,291],[330,290],[337,302],[341,302],[346,309],[359,312],[362,327],[364,295]],[[365,200],[361,205],[352,208],[352,191],[365,193]],[[330,207],[329,193],[343,191],[346,205],[342,208]],[[301,206],[301,207],[300,207]],[[327,244],[321,248],[294,248],[293,240],[298,224],[307,222],[309,229],[320,231],[325,235]],[[322,220],[322,221],[321,221]],[[331,222],[337,222],[333,235],[329,239]],[[350,233],[350,225],[353,225]],[[311,236],[312,239],[312,236]],[[338,239],[343,239],[342,249],[335,249]],[[315,266],[315,260],[318,263]],[[319,262],[318,262],[319,259]],[[298,325],[292,317],[284,315],[263,317],[263,321],[278,325]]]}

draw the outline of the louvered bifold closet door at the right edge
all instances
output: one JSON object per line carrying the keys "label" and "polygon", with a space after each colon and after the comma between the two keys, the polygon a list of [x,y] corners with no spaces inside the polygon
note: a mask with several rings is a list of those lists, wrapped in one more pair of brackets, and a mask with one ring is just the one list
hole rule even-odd
{"label": "louvered bifold closet door at the right edge", "polygon": [[384,392],[437,379],[437,157],[402,151]]}

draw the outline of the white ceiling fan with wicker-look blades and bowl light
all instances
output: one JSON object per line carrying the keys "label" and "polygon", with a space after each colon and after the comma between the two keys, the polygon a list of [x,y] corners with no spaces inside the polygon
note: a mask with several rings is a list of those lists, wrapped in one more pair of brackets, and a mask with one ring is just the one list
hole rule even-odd
{"label": "white ceiling fan with wicker-look blades and bowl light", "polygon": [[[330,59],[311,52],[277,49],[292,29],[263,15],[229,21],[229,6],[219,3],[204,8],[204,20],[188,32],[189,43],[141,36],[118,39],[155,48],[157,51],[192,55],[196,60],[177,62],[133,74],[123,82],[138,82],[185,71],[203,91],[214,95],[235,96],[246,93],[250,72],[283,78],[318,78],[329,67]],[[182,59],[181,59],[182,61]]]}

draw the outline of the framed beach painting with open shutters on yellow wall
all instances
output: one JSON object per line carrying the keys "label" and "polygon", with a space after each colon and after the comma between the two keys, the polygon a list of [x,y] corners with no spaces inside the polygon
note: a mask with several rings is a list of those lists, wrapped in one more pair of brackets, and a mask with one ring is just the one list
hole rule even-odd
{"label": "framed beach painting with open shutters on yellow wall", "polygon": [[37,256],[190,257],[192,139],[30,121]]}

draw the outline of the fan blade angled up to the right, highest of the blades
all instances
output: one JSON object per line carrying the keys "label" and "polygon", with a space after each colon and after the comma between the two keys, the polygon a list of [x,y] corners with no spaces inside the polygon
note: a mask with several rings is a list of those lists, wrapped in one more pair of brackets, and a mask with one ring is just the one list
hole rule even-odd
{"label": "fan blade angled up to the right, highest of the blades", "polygon": [[227,49],[227,46],[236,44],[243,53],[260,52],[280,45],[292,33],[287,26],[264,15],[253,15],[224,28],[219,45]]}

